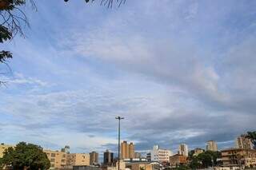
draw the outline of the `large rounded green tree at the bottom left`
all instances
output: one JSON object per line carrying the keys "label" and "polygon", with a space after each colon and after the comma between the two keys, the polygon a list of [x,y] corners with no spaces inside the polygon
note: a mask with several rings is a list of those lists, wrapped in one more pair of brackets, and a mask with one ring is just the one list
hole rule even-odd
{"label": "large rounded green tree at the bottom left", "polygon": [[44,170],[50,168],[50,160],[40,146],[20,142],[15,148],[6,149],[0,159],[0,166],[18,170]]}

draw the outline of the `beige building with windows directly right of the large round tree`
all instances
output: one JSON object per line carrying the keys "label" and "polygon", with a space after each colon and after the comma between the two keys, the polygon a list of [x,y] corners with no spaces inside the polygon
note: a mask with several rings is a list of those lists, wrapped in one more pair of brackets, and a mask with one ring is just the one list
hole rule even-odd
{"label": "beige building with windows directly right of the large round tree", "polygon": [[50,169],[58,169],[66,166],[66,152],[43,150],[50,160]]}

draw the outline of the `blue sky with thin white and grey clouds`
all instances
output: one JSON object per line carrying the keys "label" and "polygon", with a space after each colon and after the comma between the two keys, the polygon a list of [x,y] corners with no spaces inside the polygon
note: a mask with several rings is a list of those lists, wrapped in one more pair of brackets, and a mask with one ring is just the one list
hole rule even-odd
{"label": "blue sky with thin white and grey clouds", "polygon": [[35,2],[26,37],[1,44],[1,143],[115,152],[118,115],[139,152],[255,130],[256,1]]}

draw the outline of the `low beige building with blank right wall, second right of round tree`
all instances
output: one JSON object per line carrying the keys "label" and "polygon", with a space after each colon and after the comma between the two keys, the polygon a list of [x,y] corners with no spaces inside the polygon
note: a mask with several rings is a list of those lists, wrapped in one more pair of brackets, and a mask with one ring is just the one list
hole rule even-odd
{"label": "low beige building with blank right wall, second right of round tree", "polygon": [[89,153],[69,153],[67,154],[66,165],[68,166],[89,166]]}

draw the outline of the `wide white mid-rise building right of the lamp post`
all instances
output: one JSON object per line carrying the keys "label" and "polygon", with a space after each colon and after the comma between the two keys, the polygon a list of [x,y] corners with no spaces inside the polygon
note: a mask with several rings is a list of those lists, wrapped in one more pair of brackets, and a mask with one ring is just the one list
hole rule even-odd
{"label": "wide white mid-rise building right of the lamp post", "polygon": [[154,145],[153,150],[150,152],[151,161],[170,162],[170,156],[172,156],[172,152],[170,150],[159,148],[158,145]]}

